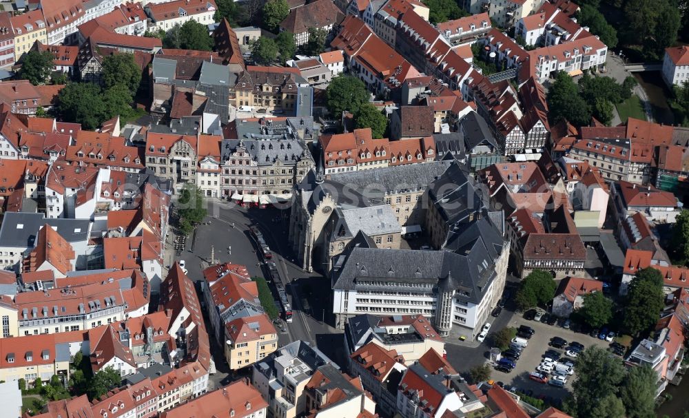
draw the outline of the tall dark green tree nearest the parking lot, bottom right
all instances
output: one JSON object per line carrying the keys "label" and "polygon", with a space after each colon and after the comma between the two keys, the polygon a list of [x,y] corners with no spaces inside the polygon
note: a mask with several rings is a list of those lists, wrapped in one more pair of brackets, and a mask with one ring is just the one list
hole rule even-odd
{"label": "tall dark green tree nearest the parking lot, bottom right", "polygon": [[[605,348],[590,346],[577,357],[573,384],[573,408],[577,417],[590,417],[604,397],[617,395],[625,369],[620,359]],[[602,415],[605,417],[612,415]]]}

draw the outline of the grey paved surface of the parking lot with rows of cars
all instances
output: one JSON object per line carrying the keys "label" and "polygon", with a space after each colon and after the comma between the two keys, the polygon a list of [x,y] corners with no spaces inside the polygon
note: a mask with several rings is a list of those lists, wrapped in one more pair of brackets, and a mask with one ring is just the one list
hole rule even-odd
{"label": "grey paved surface of the parking lot with rows of cars", "polygon": [[[532,390],[533,395],[545,395],[548,397],[553,397],[555,399],[564,399],[567,393],[566,390],[571,389],[572,383],[577,375],[576,368],[574,375],[571,375],[567,379],[567,384],[564,388],[557,388],[549,384],[541,384],[534,382],[529,379],[529,374],[534,372],[536,367],[542,361],[544,353],[548,349],[553,349],[562,353],[562,357],[567,357],[565,355],[566,348],[557,349],[548,346],[548,343],[553,337],[562,337],[567,340],[567,342],[579,342],[584,344],[585,347],[592,345],[598,345],[603,348],[608,348],[608,342],[595,337],[590,337],[584,333],[575,333],[569,329],[562,328],[558,325],[548,325],[542,322],[525,320],[524,317],[520,315],[513,315],[509,326],[519,328],[520,325],[531,326],[535,333],[528,340],[528,346],[524,348],[520,356],[519,361],[517,361],[517,367],[511,371],[511,373],[502,373],[498,370],[493,370],[492,377],[497,382],[504,382],[504,384],[511,384],[517,386],[523,391]],[[498,331],[498,328],[491,328],[491,331]],[[489,334],[490,339],[490,334]]]}

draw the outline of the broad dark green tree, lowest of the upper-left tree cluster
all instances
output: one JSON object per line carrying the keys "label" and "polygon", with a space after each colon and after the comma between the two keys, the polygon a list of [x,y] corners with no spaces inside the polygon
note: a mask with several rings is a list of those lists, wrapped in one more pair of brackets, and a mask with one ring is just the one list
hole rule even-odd
{"label": "broad dark green tree, lowest of the upper-left tree cluster", "polygon": [[108,114],[101,89],[93,83],[66,85],[57,96],[55,111],[63,121],[81,123],[89,130],[101,126]]}

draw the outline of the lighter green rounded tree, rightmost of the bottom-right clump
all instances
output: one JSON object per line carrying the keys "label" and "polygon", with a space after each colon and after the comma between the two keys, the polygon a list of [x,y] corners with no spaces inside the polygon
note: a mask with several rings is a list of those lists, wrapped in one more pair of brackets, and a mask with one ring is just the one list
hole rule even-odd
{"label": "lighter green rounded tree, rightmost of the bottom-right clump", "polygon": [[655,418],[658,374],[650,366],[632,367],[619,390],[628,418]]}

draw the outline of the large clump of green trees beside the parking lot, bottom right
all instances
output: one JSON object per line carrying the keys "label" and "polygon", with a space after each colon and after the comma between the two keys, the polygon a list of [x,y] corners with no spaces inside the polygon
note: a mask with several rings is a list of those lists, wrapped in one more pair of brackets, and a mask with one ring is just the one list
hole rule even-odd
{"label": "large clump of green trees beside the parking lot, bottom right", "polygon": [[591,346],[577,357],[566,412],[586,418],[655,418],[658,375],[650,366],[625,368],[619,357]]}

